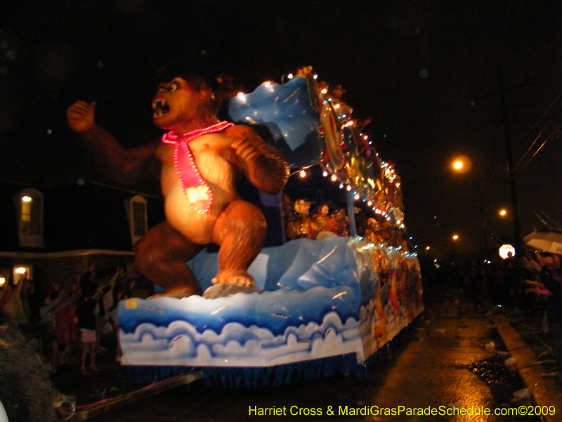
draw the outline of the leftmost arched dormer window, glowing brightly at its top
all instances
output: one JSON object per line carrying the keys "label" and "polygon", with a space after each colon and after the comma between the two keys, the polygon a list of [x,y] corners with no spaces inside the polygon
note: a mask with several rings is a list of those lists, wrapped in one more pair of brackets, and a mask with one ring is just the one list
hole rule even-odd
{"label": "leftmost arched dormer window, glowing brightly at its top", "polygon": [[17,200],[20,246],[43,247],[43,194],[35,189],[20,192]]}

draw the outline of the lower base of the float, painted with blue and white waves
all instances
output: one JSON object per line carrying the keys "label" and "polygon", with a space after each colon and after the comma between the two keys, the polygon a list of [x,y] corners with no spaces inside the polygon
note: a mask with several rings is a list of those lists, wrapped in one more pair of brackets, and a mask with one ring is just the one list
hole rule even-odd
{"label": "lower base of the float, painted with blue and white waves", "polygon": [[[188,264],[211,286],[216,253]],[[249,272],[254,293],[121,302],[122,364],[265,367],[343,354],[360,364],[423,310],[417,258],[359,238],[264,248]]]}

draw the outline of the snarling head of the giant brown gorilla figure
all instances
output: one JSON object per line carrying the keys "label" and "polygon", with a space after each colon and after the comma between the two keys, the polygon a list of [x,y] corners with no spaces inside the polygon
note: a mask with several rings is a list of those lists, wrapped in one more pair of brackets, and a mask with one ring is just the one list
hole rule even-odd
{"label": "snarling head of the giant brown gorilla figure", "polygon": [[162,129],[174,129],[178,124],[195,120],[208,110],[212,93],[196,91],[181,77],[159,84],[152,98],[152,121]]}

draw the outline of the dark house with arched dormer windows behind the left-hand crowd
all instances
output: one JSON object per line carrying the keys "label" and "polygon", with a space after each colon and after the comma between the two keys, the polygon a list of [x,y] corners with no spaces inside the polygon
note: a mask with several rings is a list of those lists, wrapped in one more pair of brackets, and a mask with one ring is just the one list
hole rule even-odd
{"label": "dark house with arched dormer windows behind the left-hand crowd", "polygon": [[0,181],[0,278],[17,283],[25,270],[44,292],[72,286],[91,264],[125,264],[136,278],[133,245],[162,221],[163,199],[149,193],[82,179],[50,188]]}

